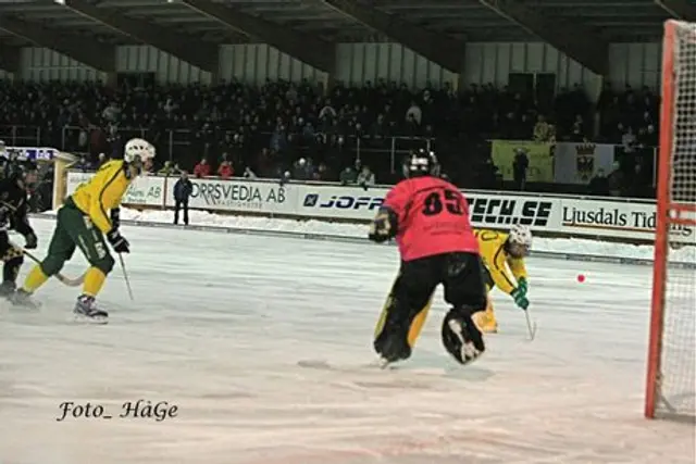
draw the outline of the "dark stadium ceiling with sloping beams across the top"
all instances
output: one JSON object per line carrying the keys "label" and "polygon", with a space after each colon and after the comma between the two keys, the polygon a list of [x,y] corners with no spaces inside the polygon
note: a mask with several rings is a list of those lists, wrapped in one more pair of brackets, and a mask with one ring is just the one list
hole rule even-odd
{"label": "dark stadium ceiling with sloping beams across the top", "polygon": [[201,70],[221,43],[269,43],[332,73],[335,43],[397,41],[460,73],[467,42],[543,40],[601,75],[610,42],[657,41],[689,0],[10,0],[0,2],[0,66],[18,49],[55,50],[113,72],[115,46],[150,45]]}

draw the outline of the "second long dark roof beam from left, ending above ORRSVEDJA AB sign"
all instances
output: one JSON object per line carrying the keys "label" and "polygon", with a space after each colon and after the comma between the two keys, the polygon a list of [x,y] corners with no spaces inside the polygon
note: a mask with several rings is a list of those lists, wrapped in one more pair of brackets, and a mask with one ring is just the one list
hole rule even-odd
{"label": "second long dark roof beam from left, ending above ORRSVEDJA AB sign", "polygon": [[97,8],[84,0],[61,0],[60,2],[77,14],[151,45],[203,71],[217,72],[220,53],[214,43],[175,33],[148,21],[126,17],[112,9]]}

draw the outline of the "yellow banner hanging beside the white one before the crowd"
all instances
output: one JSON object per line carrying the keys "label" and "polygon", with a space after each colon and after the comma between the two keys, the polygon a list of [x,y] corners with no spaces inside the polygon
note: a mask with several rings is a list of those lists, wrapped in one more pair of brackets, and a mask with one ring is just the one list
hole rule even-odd
{"label": "yellow banner hanging beside the white one before the crowd", "polygon": [[514,180],[512,163],[518,151],[524,152],[530,160],[526,171],[527,183],[554,181],[554,143],[529,140],[493,140],[490,156],[504,180]]}

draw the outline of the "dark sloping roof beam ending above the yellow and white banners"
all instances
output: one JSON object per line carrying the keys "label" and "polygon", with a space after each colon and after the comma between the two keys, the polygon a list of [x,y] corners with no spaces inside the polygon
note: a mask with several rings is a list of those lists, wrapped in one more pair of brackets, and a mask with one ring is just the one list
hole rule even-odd
{"label": "dark sloping roof beam ending above the yellow and white banners", "polygon": [[609,74],[609,43],[575,21],[545,17],[517,0],[478,0],[481,4],[550,43],[589,71]]}

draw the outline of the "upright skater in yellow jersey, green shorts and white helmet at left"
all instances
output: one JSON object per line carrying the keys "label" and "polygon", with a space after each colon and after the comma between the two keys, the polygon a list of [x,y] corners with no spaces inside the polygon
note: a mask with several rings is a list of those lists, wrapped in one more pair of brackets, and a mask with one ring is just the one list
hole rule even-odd
{"label": "upright skater in yellow jersey, green shorts and white helmet at left", "polygon": [[24,286],[14,294],[15,304],[34,305],[29,297],[61,271],[78,247],[90,267],[74,312],[91,321],[105,322],[109,314],[95,304],[114,266],[104,236],[116,253],[129,252],[128,241],[119,233],[119,206],[130,183],[151,166],[153,158],[154,147],[147,140],[128,140],[123,160],[104,163],[91,179],[75,189],[58,210],[48,255],[26,276]]}

